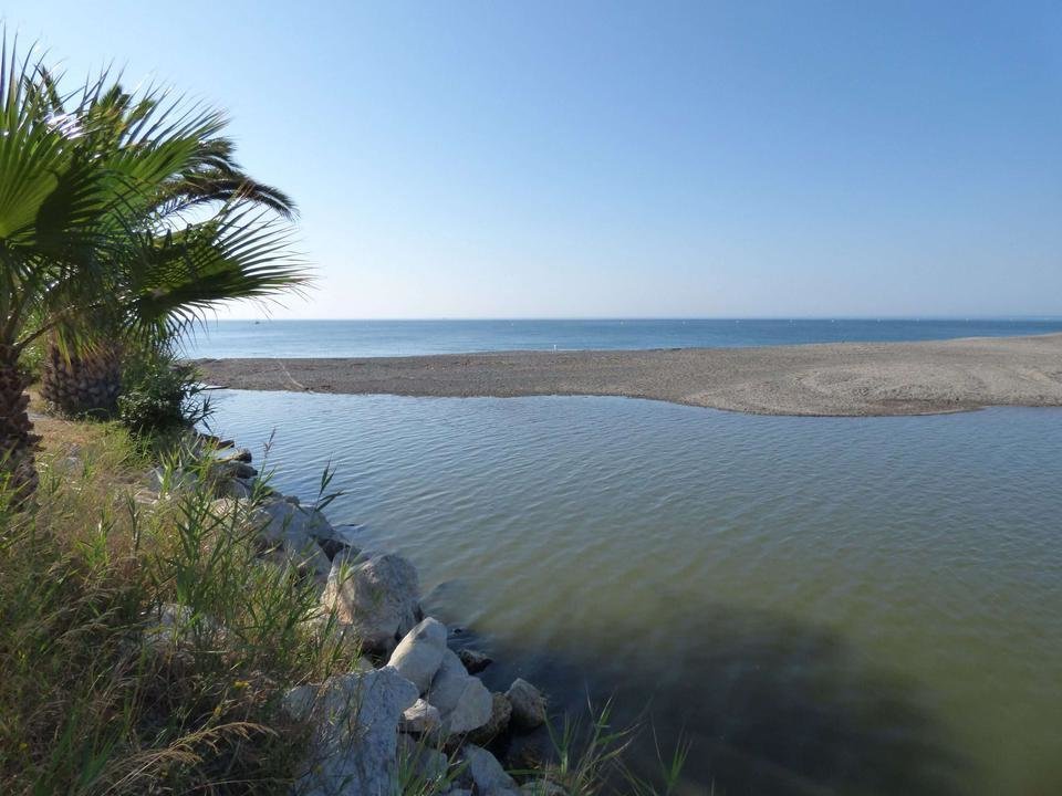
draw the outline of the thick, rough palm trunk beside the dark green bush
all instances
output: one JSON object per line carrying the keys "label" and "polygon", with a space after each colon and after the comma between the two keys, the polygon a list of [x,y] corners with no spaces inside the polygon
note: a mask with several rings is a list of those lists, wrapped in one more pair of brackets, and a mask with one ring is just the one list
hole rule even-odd
{"label": "thick, rough palm trunk beside the dark green bush", "polygon": [[64,415],[106,418],[122,392],[122,354],[103,344],[81,356],[64,356],[50,345],[41,373],[41,395]]}

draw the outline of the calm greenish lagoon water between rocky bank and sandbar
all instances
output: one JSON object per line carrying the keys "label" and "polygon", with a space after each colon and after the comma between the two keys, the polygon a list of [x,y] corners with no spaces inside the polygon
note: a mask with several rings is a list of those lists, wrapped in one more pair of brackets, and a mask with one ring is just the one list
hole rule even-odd
{"label": "calm greenish lagoon water between rocky bank and sandbar", "polygon": [[[688,793],[1062,793],[1062,411],[218,395],[560,706],[647,702]],[[650,754],[643,734],[641,760]]]}

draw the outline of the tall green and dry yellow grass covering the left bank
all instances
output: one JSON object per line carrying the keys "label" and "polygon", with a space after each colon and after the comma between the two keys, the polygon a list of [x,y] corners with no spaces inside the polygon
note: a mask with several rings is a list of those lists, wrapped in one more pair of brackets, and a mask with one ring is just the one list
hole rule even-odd
{"label": "tall green and dry yellow grass covering the left bank", "polygon": [[87,438],[42,458],[37,506],[0,495],[0,793],[287,792],[308,735],[280,699],[356,645],[247,504],[205,473],[149,503],[142,446],[67,427]]}

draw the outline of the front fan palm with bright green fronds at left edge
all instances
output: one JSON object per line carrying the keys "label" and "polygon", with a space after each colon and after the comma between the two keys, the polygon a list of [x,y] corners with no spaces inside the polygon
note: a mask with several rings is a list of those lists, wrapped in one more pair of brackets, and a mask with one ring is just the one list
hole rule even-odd
{"label": "front fan palm with bright green fronds at left edge", "polygon": [[287,228],[239,191],[205,221],[159,208],[217,139],[219,113],[148,90],[131,101],[131,124],[115,125],[106,72],[62,96],[65,113],[56,91],[32,49],[20,57],[0,33],[0,481],[17,502],[37,486],[28,346],[51,336],[64,353],[92,350],[90,317],[125,339],[157,338],[217,301],[306,280]]}

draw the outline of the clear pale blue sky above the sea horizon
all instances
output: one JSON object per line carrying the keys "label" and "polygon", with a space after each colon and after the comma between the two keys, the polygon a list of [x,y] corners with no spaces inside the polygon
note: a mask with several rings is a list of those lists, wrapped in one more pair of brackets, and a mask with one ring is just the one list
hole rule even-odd
{"label": "clear pale blue sky above the sea horizon", "polygon": [[1062,3],[2,13],[229,112],[317,273],[272,317],[1062,315]]}

